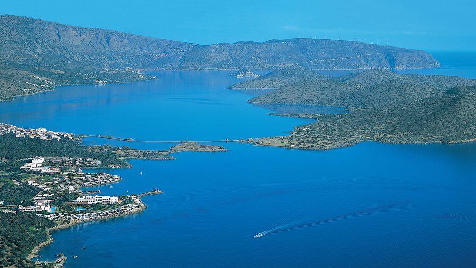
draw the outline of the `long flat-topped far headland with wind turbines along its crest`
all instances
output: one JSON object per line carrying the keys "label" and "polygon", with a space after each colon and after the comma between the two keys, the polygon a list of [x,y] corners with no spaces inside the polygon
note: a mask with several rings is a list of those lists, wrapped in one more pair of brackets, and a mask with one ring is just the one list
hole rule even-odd
{"label": "long flat-topped far headland with wind turbines along its crest", "polygon": [[181,60],[183,69],[314,70],[432,68],[440,64],[421,50],[328,39],[269,40],[196,47]]}

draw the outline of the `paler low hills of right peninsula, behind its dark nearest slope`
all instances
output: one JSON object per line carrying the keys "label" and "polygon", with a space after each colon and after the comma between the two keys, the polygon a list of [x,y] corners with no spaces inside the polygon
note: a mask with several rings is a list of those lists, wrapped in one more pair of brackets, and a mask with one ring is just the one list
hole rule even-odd
{"label": "paler low hills of right peninsula, behind its dark nearest slope", "polygon": [[[270,74],[270,77],[273,75]],[[301,77],[296,75],[295,79],[286,80],[294,81]],[[276,80],[283,83],[284,78],[276,78]],[[252,81],[247,82],[252,83]],[[268,83],[274,84],[271,80]],[[475,79],[396,74],[388,70],[371,69],[339,78],[308,77],[307,80],[286,84],[275,91],[255,97],[249,102],[365,108],[408,103],[443,94],[445,90],[452,87],[472,85],[476,85]]]}

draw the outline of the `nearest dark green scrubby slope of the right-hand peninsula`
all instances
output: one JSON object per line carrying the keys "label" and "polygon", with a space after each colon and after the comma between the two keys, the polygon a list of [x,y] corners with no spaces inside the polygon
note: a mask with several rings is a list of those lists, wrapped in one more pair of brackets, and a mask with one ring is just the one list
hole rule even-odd
{"label": "nearest dark green scrubby slope of the right-hand peninsula", "polygon": [[476,90],[472,87],[472,91],[462,94],[443,94],[405,105],[314,118],[317,122],[296,127],[289,136],[263,138],[257,143],[327,150],[363,141],[423,144],[473,141],[476,140]]}

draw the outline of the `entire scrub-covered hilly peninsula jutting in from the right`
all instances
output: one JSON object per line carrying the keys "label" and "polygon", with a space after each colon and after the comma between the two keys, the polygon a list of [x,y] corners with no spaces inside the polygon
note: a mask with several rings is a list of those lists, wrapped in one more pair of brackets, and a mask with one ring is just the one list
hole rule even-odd
{"label": "entire scrub-covered hilly peninsula jutting in from the right", "polygon": [[314,118],[289,136],[254,139],[257,145],[327,150],[362,141],[456,143],[476,140],[476,80],[367,70],[342,77],[279,70],[232,89],[277,88],[252,104],[345,107],[344,114],[277,114]]}

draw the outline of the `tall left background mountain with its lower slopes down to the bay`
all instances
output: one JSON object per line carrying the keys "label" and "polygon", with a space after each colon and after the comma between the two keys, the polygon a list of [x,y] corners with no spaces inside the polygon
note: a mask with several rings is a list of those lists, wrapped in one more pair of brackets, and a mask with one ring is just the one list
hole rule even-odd
{"label": "tall left background mountain with its lower slopes down to the bay", "polygon": [[150,62],[168,66],[190,46],[194,45],[1,15],[0,100],[63,84],[154,79],[128,68]]}

